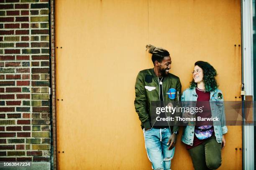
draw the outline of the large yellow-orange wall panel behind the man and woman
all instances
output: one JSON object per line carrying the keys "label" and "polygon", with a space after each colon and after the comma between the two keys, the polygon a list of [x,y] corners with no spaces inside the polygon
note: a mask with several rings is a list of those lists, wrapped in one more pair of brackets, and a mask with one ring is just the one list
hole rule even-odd
{"label": "large yellow-orange wall panel behind the man and woman", "polygon": [[[195,61],[205,60],[225,100],[239,99],[239,0],[56,0],[60,170],[151,168],[133,105],[136,75],[153,67],[148,43],[169,50],[182,90]],[[228,129],[220,169],[241,169],[242,128]],[[172,168],[191,170],[180,137]]]}

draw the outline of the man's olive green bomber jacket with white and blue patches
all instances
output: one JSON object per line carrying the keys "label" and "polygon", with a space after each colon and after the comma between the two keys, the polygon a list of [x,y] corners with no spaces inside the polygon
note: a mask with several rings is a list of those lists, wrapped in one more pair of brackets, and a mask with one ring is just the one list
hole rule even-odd
{"label": "man's olive green bomber jacket with white and blue patches", "polygon": [[[171,101],[180,101],[181,88],[179,77],[168,73],[164,76],[163,98],[164,103]],[[158,77],[154,72],[154,68],[142,70],[138,73],[135,84],[135,110],[141,120],[141,128],[151,128],[150,123],[150,108],[151,101],[160,101],[160,85]],[[172,131],[178,131],[177,125],[173,126]]]}

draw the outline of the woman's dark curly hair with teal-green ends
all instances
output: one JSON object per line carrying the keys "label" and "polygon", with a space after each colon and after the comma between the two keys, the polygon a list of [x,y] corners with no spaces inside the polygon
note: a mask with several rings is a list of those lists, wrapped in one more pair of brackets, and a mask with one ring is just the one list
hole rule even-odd
{"label": "woman's dark curly hair with teal-green ends", "polygon": [[[212,65],[210,65],[208,62],[205,61],[197,61],[195,62],[195,66],[199,66],[203,70],[203,80],[205,83],[205,91],[211,92],[214,91],[218,85],[217,81],[215,79],[215,76],[217,75],[217,72]],[[194,87],[197,87],[197,83],[193,79],[192,82],[190,82],[189,88],[192,89]]]}

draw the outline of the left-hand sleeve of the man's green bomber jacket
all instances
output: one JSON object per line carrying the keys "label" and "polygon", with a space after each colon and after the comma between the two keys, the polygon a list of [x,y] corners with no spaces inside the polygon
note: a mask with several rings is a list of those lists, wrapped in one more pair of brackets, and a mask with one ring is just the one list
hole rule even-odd
{"label": "left-hand sleeve of the man's green bomber jacket", "polygon": [[139,72],[136,78],[135,84],[135,101],[134,101],[135,110],[138,113],[139,119],[143,123],[145,129],[150,129],[150,120],[147,111],[146,104],[146,89],[144,84],[144,75]]}

